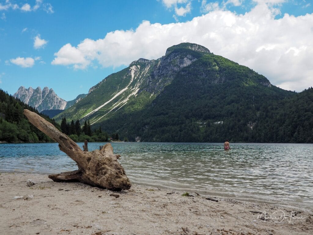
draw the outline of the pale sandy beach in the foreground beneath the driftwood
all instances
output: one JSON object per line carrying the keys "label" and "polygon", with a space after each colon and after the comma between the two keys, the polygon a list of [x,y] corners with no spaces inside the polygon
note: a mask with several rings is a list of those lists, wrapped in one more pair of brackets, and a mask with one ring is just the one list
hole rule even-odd
{"label": "pale sandy beach in the foreground beneath the driftwood", "polygon": [[[28,179],[36,184],[27,186]],[[182,196],[185,192],[142,185],[112,192],[82,183],[57,183],[47,174],[35,173],[2,172],[0,184],[0,234],[5,235],[274,235],[313,231],[312,211],[294,206],[213,198],[216,202],[194,192]],[[112,193],[115,196],[110,196]]]}

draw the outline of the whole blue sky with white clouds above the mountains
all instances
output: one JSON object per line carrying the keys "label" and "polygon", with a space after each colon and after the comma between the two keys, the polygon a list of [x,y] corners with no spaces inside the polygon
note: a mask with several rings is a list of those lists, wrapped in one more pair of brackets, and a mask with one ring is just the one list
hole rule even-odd
{"label": "whole blue sky with white clouds above the mountains", "polygon": [[313,86],[313,0],[0,0],[0,88],[48,86],[69,101],[182,42],[280,88]]}

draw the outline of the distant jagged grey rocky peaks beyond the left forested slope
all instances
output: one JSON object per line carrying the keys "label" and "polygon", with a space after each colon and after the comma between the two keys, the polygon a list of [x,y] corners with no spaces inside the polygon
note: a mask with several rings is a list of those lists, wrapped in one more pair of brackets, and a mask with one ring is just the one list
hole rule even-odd
{"label": "distant jagged grey rocky peaks beyond the left forested slope", "polygon": [[41,90],[39,86],[36,89],[32,87],[26,89],[24,86],[21,86],[18,88],[18,91],[14,93],[13,97],[20,99],[25,104],[35,107],[39,112],[42,112],[46,110],[64,110],[86,97],[86,94],[81,94],[77,96],[76,99],[66,102],[64,99],[58,97],[52,88],[44,87],[44,89]]}

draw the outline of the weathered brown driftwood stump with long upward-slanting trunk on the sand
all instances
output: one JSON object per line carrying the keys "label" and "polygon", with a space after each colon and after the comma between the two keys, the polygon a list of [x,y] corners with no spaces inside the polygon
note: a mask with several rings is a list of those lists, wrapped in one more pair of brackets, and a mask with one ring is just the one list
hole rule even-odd
{"label": "weathered brown driftwood stump with long upward-slanting trunk on the sand", "polygon": [[131,182],[117,161],[116,155],[113,154],[110,143],[105,144],[101,150],[84,152],[71,138],[61,133],[44,118],[27,109],[24,109],[24,114],[30,123],[58,142],[59,149],[77,163],[78,170],[49,175],[50,179],[56,182],[77,181],[113,191],[130,189]]}

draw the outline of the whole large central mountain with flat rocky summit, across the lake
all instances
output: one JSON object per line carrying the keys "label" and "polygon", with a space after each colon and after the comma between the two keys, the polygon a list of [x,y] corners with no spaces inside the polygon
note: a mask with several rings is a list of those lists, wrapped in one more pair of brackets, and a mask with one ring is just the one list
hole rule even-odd
{"label": "whole large central mountain with flat rocky summit, across the lake", "polygon": [[55,119],[90,120],[93,128],[132,141],[298,142],[272,120],[301,96],[201,45],[182,43],[107,76]]}

